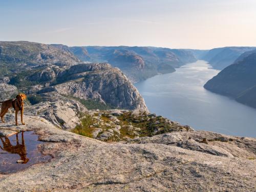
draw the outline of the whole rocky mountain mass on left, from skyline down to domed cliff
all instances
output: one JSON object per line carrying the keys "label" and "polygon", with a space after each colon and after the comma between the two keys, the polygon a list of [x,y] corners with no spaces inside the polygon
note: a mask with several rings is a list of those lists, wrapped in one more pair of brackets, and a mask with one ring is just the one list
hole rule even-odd
{"label": "whole rocky mountain mass on left, from skyline down to domed cliff", "polygon": [[[81,53],[80,48],[27,41],[1,41],[0,46],[0,67],[6,69],[0,77],[8,81],[0,86],[5,98],[18,90],[28,94],[32,104],[66,97],[91,108],[147,111],[138,90],[118,68],[108,63],[82,63],[73,54]],[[82,49],[82,53],[86,51]],[[4,93],[6,90],[9,92]]]}

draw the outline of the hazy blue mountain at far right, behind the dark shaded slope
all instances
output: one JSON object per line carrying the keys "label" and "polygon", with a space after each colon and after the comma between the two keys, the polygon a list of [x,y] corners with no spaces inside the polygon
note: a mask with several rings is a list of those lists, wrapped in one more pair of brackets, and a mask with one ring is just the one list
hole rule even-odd
{"label": "hazy blue mountain at far right, behind the dark shaded slope", "polygon": [[202,59],[208,61],[213,68],[222,70],[231,65],[244,52],[255,49],[256,47],[216,48],[209,50],[204,56],[202,56]]}

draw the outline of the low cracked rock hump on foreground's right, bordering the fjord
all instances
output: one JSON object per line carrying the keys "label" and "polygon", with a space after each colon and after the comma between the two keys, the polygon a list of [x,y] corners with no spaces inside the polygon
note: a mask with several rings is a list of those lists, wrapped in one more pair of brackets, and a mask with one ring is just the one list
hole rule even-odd
{"label": "low cracked rock hump on foreground's right, bordering the fjord", "polygon": [[176,132],[143,137],[127,143],[158,143],[173,145],[187,150],[223,156],[251,158],[256,155],[256,143],[252,138],[241,138],[207,131]]}

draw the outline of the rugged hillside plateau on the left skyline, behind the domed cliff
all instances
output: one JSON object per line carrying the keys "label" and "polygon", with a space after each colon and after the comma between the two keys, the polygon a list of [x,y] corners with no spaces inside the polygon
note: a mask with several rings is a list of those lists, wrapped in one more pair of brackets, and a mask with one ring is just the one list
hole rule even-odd
{"label": "rugged hillside plateau on the left skyline, behind the domed cliff", "polygon": [[70,51],[28,41],[0,41],[0,76],[54,63],[70,66],[80,60]]}

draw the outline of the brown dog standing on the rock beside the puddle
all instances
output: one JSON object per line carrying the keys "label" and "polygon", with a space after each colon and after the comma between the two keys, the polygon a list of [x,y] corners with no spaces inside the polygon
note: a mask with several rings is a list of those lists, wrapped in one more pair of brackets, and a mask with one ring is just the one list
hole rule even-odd
{"label": "brown dog standing on the rock beside the puddle", "polygon": [[13,107],[15,110],[16,125],[18,125],[18,120],[17,120],[18,111],[20,111],[20,118],[22,120],[22,124],[25,124],[23,122],[23,112],[24,112],[24,100],[26,98],[27,98],[27,96],[25,94],[18,94],[16,96],[16,99],[9,99],[7,101],[0,102],[0,103],[2,103],[1,113],[0,113],[0,117],[1,117],[2,121],[5,122],[4,121],[5,114],[8,112],[9,108]]}

